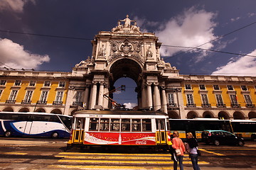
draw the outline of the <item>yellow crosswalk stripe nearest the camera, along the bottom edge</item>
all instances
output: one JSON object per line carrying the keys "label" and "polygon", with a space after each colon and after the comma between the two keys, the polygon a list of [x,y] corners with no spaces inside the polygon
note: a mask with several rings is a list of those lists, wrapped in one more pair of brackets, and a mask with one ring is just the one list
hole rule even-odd
{"label": "yellow crosswalk stripe nearest the camera, along the bottom edge", "polygon": [[144,167],[144,166],[95,166],[95,165],[50,165],[48,166],[50,169],[101,169],[101,170],[109,170],[109,169],[174,169],[172,166],[164,166],[164,167]]}

